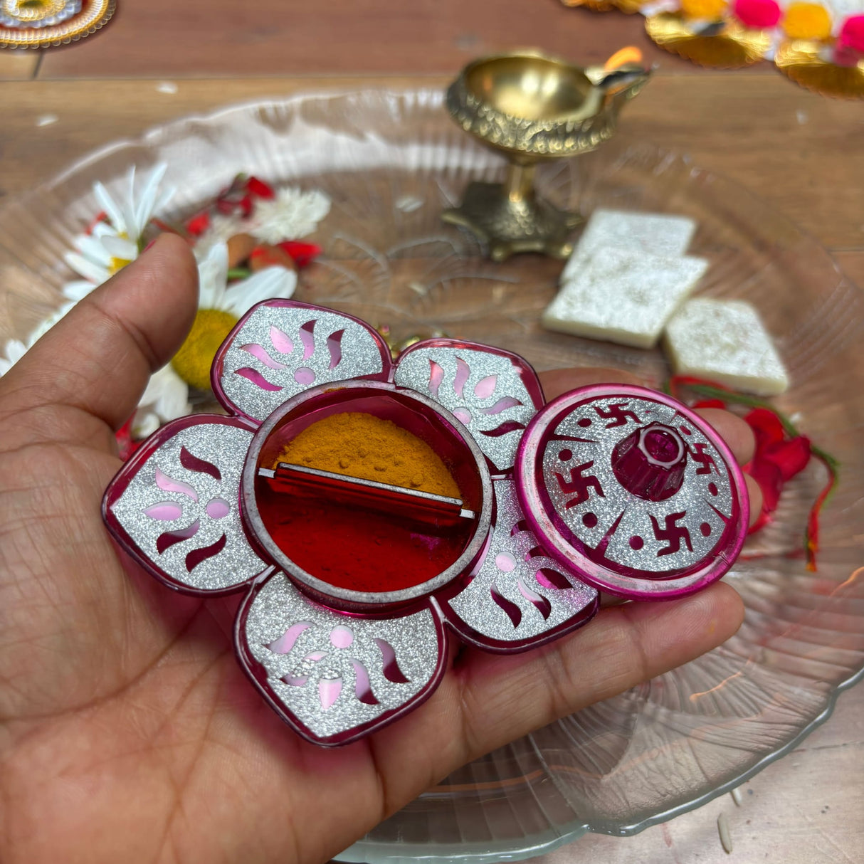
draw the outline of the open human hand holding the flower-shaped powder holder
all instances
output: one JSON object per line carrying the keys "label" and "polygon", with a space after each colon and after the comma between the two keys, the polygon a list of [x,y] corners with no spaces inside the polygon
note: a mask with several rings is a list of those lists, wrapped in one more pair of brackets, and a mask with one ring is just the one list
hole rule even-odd
{"label": "open human hand holding the flower-shaped powder holder", "polygon": [[[187,245],[163,236],[0,378],[4,864],[326,861],[457,766],[740,626],[740,599],[722,583],[604,608],[524,654],[454,651],[410,715],[349,746],[308,744],[234,659],[238,597],[202,601],[127,573],[100,516],[120,467],[114,430],[187,333],[195,272]],[[541,378],[548,398],[632,382],[599,370]],[[750,458],[743,421],[703,413]]]}

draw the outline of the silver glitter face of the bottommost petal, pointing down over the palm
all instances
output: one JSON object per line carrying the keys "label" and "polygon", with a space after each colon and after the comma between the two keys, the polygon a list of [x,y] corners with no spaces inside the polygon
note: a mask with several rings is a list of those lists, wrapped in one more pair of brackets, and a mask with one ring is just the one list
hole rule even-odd
{"label": "silver glitter face of the bottommost petal, pointing down over the palm", "polygon": [[347,617],[308,600],[283,573],[251,601],[243,637],[284,710],[321,740],[422,695],[443,648],[429,608],[396,619]]}

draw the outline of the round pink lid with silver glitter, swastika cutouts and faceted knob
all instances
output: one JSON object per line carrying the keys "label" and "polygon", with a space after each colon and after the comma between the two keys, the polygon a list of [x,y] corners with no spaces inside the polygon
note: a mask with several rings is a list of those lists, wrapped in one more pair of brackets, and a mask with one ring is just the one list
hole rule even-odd
{"label": "round pink lid with silver glitter, swastika cutouts and faceted knob", "polygon": [[516,483],[543,549],[622,597],[704,588],[746,536],[744,476],[725,442],[645,387],[597,384],[550,402],[525,430]]}

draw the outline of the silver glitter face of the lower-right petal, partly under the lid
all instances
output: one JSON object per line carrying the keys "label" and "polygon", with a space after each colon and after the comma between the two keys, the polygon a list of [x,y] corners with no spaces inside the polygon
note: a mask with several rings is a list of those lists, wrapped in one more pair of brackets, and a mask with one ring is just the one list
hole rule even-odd
{"label": "silver glitter face of the lower-right petal, partly under the lid", "polygon": [[[524,514],[512,480],[497,480],[494,489],[498,515],[486,561],[449,606],[481,636],[516,642],[565,625],[594,602],[597,592],[564,575],[551,558],[535,552],[537,537],[522,528]],[[560,577],[556,582],[569,582],[572,588],[551,587],[548,577],[537,581],[541,570],[554,570]],[[500,603],[495,594],[507,603]],[[508,608],[510,613],[505,611]]]}

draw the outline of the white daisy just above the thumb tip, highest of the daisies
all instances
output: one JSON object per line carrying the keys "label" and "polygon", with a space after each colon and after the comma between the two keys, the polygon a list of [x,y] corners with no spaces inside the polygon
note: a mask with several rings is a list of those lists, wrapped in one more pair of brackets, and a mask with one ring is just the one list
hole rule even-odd
{"label": "white daisy just above the thumb tip, highest of the daisies", "polygon": [[77,251],[64,256],[66,263],[83,276],[63,287],[63,294],[70,300],[85,297],[138,257],[141,238],[150,219],[175,193],[174,187],[160,191],[167,169],[165,162],[156,165],[144,180],[140,194],[136,194],[133,165],[129,170],[127,194],[119,201],[111,197],[102,183],[93,184],[93,194],[105,212],[106,221],[98,222],[89,234],[79,234],[73,241]]}

